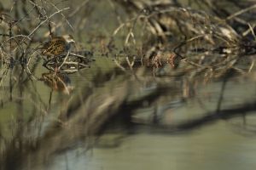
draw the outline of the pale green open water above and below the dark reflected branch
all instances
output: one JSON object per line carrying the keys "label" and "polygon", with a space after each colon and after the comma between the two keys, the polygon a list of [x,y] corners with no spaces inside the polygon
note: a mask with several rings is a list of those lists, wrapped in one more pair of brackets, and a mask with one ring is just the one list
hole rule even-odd
{"label": "pale green open water above and below the dark reflected branch", "polygon": [[[131,134],[107,133],[100,137],[88,153],[85,154],[83,148],[68,150],[65,156],[59,156],[54,161],[51,168],[254,169],[255,111],[247,112],[246,121],[242,115],[237,115],[180,132],[172,129],[179,122],[193,121],[205,116],[208,111],[215,111],[221,86],[222,82],[208,84],[198,90],[195,98],[186,102],[173,99],[176,102],[171,102],[172,105],[164,111],[161,120],[171,125],[171,129],[137,125]],[[241,82],[233,79],[227,83],[222,107],[236,108],[252,99],[255,99],[254,80]],[[152,116],[152,110],[143,109],[135,111],[135,122],[138,116],[146,117],[147,121]],[[143,111],[148,116],[143,115]],[[60,161],[63,163],[60,164]]]}

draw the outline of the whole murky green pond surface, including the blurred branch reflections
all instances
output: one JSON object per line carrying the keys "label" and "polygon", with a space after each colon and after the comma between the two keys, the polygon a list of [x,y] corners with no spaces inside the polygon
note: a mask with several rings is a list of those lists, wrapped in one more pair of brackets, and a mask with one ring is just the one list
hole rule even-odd
{"label": "whole murky green pond surface, including the blurred branch reflections", "polygon": [[255,56],[218,54],[218,42],[201,38],[177,50],[187,60],[172,58],[183,40],[150,44],[139,25],[136,44],[123,45],[124,29],[108,48],[119,22],[113,6],[96,8],[90,20],[70,20],[84,25],[71,32],[71,52],[92,59],[90,68],[58,75],[38,54],[29,67],[1,65],[0,167],[255,169]]}

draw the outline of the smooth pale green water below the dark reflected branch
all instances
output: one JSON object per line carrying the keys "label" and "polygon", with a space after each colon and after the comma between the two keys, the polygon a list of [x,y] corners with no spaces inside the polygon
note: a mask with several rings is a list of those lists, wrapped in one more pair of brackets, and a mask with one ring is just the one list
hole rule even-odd
{"label": "smooth pale green water below the dark reflected branch", "polygon": [[171,135],[151,133],[150,128],[139,129],[124,138],[118,147],[94,147],[87,154],[80,147],[69,150],[65,156],[58,156],[50,168],[231,170],[255,167],[255,139],[232,132],[224,121]]}

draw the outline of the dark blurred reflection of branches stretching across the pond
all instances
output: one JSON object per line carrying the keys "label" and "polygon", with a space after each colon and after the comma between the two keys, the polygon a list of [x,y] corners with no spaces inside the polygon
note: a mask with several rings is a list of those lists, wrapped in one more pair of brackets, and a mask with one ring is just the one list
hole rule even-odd
{"label": "dark blurred reflection of branches stretching across the pond", "polygon": [[[117,65],[113,59],[101,59],[105,64]],[[97,64],[101,59],[91,65],[102,65]],[[147,127],[146,132],[155,134],[189,133],[197,127],[218,120],[229,121],[236,116],[243,120],[242,129],[250,126],[247,115],[255,111],[254,94],[247,96],[239,91],[246,90],[244,85],[247,83],[249,91],[254,88],[254,72],[245,76],[230,70],[216,81],[204,82],[204,72],[189,79],[191,72],[178,71],[182,67],[186,70],[189,67],[187,63],[177,69],[168,64],[161,65],[172,69],[172,74],[178,72],[183,76],[172,76],[169,71],[154,76],[152,71],[161,71],[154,70],[151,64],[131,66],[132,70],[122,71],[120,67],[128,65],[126,58],[124,60],[109,71],[104,71],[104,66],[102,70],[86,70],[86,73],[93,71],[94,76],[90,79],[83,72],[65,75],[66,78],[59,73],[43,73],[38,80],[46,83],[20,76],[20,71],[15,69],[22,67],[15,65],[12,74],[22,77],[17,78],[20,82],[5,80],[11,82],[11,86],[2,90],[2,94],[9,95],[2,97],[1,110],[9,107],[12,100],[15,100],[16,110],[12,113],[14,122],[9,127],[9,131],[13,131],[11,138],[2,136],[4,167],[15,169],[33,164],[47,165],[54,156],[78,147],[81,142],[86,150],[94,145],[117,147],[119,138],[137,134],[142,127]],[[71,83],[75,86],[72,87]],[[233,93],[233,88],[237,94]],[[230,94],[239,97],[234,99]],[[201,109],[190,111],[191,105]],[[184,111],[178,111],[184,108]],[[101,138],[105,133],[121,135],[108,144]]]}

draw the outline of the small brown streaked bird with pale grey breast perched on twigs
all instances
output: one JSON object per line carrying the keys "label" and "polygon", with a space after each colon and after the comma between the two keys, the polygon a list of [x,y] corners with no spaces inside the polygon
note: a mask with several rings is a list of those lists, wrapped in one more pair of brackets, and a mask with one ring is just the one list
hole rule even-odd
{"label": "small brown streaked bird with pale grey breast perched on twigs", "polygon": [[43,55],[57,56],[63,54],[64,52],[67,52],[71,48],[70,42],[75,41],[73,40],[73,37],[71,35],[66,34],[62,37],[55,37],[49,42],[44,42],[42,44],[43,47],[36,48],[36,50],[43,49]]}

